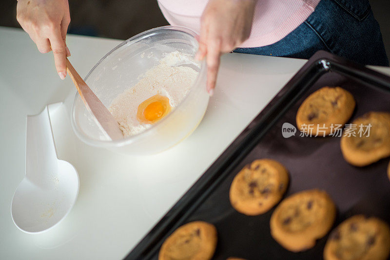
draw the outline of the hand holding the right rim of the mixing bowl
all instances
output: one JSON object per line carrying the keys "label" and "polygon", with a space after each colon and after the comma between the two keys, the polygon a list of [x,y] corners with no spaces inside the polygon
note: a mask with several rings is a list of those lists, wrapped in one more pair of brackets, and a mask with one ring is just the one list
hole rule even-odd
{"label": "hand holding the right rim of the mixing bowl", "polygon": [[206,56],[207,92],[213,95],[220,57],[233,51],[251,33],[256,0],[210,0],[200,20],[196,59]]}

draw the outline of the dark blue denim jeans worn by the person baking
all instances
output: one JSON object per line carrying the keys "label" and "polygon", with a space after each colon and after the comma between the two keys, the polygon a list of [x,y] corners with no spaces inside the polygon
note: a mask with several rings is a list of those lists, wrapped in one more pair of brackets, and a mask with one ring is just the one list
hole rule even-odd
{"label": "dark blue denim jeans worn by the person baking", "polygon": [[308,59],[318,50],[361,64],[389,66],[369,0],[321,0],[306,21],[278,42],[234,52]]}

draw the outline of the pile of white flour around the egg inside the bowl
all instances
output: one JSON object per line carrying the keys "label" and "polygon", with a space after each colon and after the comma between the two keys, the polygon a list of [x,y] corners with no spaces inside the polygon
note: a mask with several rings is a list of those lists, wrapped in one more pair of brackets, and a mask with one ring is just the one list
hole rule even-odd
{"label": "pile of white flour around the egg inside the bowl", "polygon": [[[141,54],[141,57],[143,55]],[[151,127],[137,120],[138,105],[146,99],[156,94],[166,96],[172,109],[181,102],[189,92],[198,72],[190,67],[173,65],[189,63],[188,60],[189,57],[177,51],[167,54],[158,65],[141,75],[141,79],[133,88],[114,99],[109,111],[117,119],[124,136],[135,135]]]}

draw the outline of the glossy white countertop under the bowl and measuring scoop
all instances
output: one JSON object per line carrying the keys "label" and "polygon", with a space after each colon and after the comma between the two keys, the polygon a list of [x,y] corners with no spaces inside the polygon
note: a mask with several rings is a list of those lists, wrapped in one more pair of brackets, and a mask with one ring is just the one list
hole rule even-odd
{"label": "glossy white countertop under the bowl and measuring scoop", "polygon": [[[120,40],[70,35],[70,60],[84,77]],[[148,157],[81,143],[70,127],[75,87],[61,81],[52,54],[42,55],[19,29],[0,27],[0,259],[122,259],[215,161],[305,60],[229,54],[215,95],[185,141]],[[390,74],[389,68],[379,68]],[[64,102],[51,114],[59,159],[78,170],[80,191],[69,215],[42,234],[26,234],[10,207],[25,175],[26,115]]]}

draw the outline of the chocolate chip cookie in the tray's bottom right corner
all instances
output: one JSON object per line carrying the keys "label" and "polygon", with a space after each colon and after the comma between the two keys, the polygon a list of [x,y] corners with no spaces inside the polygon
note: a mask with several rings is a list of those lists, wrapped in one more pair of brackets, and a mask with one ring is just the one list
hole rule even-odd
{"label": "chocolate chip cookie in the tray's bottom right corner", "polygon": [[328,238],[325,260],[386,260],[390,229],[378,218],[356,215],[338,225]]}

